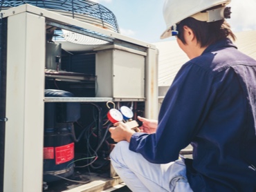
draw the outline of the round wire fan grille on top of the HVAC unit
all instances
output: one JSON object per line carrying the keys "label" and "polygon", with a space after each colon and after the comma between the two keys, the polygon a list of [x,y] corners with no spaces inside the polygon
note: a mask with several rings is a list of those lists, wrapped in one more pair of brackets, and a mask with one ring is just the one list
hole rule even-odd
{"label": "round wire fan grille on top of the HVAC unit", "polygon": [[27,0],[27,1],[0,1],[0,10],[30,4],[39,8],[45,8],[67,17],[72,17],[95,26],[120,32],[118,23],[113,12],[93,1],[82,0]]}

